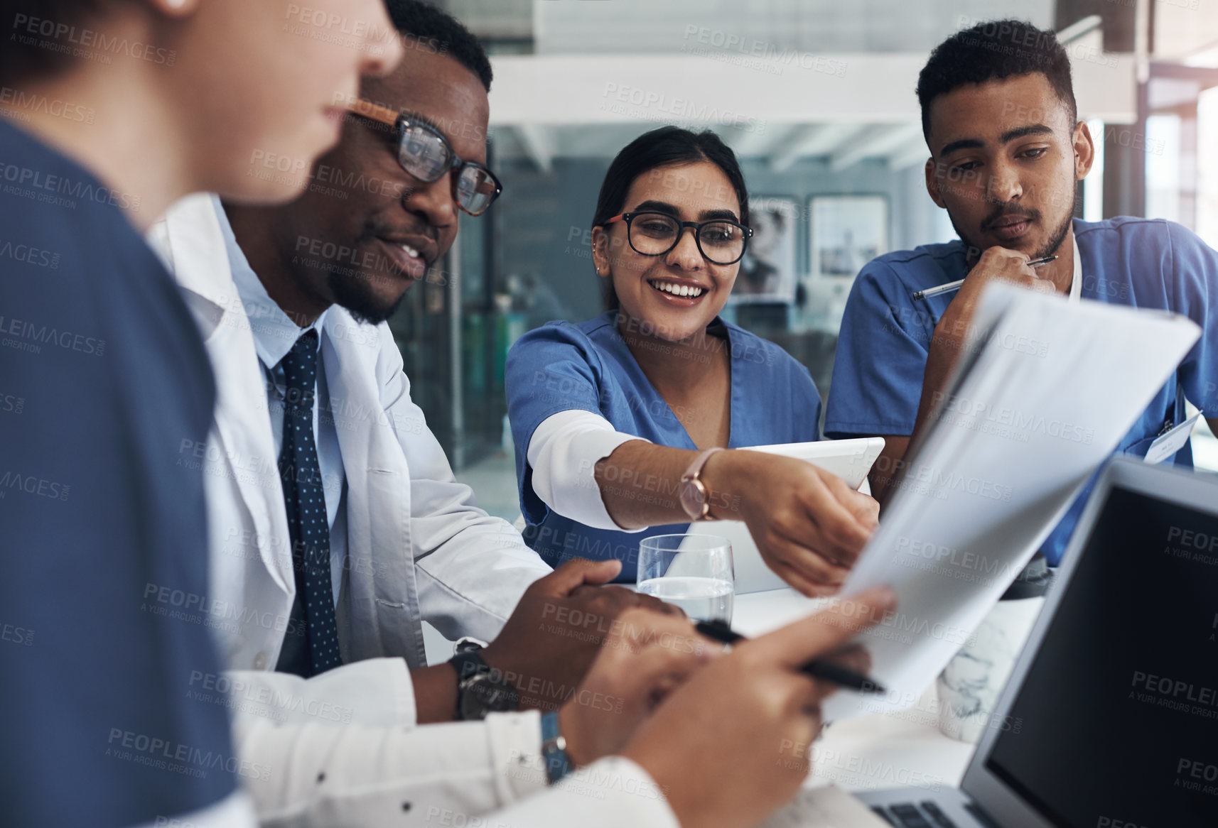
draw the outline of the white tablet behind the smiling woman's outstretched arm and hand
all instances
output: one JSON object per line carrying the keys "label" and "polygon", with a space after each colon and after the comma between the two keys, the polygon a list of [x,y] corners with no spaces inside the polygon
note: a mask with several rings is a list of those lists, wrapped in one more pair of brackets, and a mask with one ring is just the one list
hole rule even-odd
{"label": "white tablet behind the smiling woman's outstretched arm and hand", "polygon": [[[867,472],[879,453],[884,451],[883,437],[856,437],[851,440],[822,440],[811,443],[778,443],[775,446],[742,447],[749,452],[782,454],[806,460],[842,480],[850,488],[866,487]],[[870,494],[870,489],[866,489]],[[689,533],[717,535],[732,544],[736,570],[736,594],[783,589],[786,581],[775,575],[761,559],[758,544],[753,542],[749,527],[739,520],[720,520],[714,524],[691,524]]]}

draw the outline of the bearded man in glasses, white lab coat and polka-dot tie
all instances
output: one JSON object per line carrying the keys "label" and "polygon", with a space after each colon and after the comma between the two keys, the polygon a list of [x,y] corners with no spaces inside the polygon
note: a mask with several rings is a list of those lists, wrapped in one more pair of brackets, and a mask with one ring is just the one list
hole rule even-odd
{"label": "bearded man in glasses, white lab coat and polka-dot tie", "polygon": [[[231,707],[242,757],[272,768],[250,781],[264,815],[346,802],[384,816],[418,796],[476,812],[544,787],[544,773],[509,771],[540,755],[554,714],[407,731],[553,710],[619,612],[671,611],[593,588],[614,561],[551,572],[474,504],[410,401],[385,320],[452,246],[458,211],[485,212],[501,186],[482,163],[486,55],[434,7],[387,5],[410,47],[345,101],[306,195],[274,209],[195,196],[152,231],[218,403],[208,442],[184,440],[175,458],[205,471],[213,594],[145,600],[217,631],[234,672],[192,675],[192,698]],[[268,163],[285,166],[255,153],[251,174]],[[596,623],[564,623],[576,614]],[[423,620],[493,643],[463,640],[429,667]]]}

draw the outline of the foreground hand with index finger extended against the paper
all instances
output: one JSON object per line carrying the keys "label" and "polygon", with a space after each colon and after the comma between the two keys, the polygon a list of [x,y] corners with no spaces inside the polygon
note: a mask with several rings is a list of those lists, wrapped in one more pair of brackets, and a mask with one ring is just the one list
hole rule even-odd
{"label": "foreground hand with index finger extended against the paper", "polygon": [[894,610],[870,589],[780,627],[694,671],[655,707],[621,756],[665,791],[682,826],[754,826],[808,782],[821,705],[838,689],[800,665],[843,647]]}

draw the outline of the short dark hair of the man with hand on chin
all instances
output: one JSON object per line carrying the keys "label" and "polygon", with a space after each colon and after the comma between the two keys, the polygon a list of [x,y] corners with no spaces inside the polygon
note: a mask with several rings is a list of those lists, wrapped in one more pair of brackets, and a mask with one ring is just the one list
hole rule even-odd
{"label": "short dark hair of the man with hand on chin", "polygon": [[1027,21],[983,21],[956,32],[931,52],[917,77],[922,105],[922,135],[931,139],[931,102],[939,95],[988,80],[1005,80],[1039,72],[1069,108],[1071,125],[1078,119],[1069,55],[1052,32]]}

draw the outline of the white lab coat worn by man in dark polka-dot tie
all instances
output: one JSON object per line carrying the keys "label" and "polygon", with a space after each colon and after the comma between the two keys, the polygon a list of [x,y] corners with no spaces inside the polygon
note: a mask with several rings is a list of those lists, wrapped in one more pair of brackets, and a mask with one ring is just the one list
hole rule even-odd
{"label": "white lab coat worn by man in dark polka-dot tie", "polygon": [[[213,594],[203,609],[230,668],[270,670],[296,591],[291,542],[266,385],[211,197],[174,205],[150,241],[184,289],[216,373],[208,444],[183,446],[177,458],[205,469]],[[453,477],[410,401],[389,325],[362,325],[334,307],[323,330],[347,481],[345,660],[400,656],[425,666],[420,619],[449,638],[495,638],[525,587],[549,567]]]}

